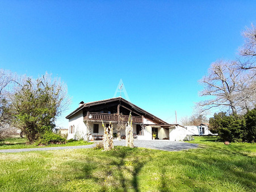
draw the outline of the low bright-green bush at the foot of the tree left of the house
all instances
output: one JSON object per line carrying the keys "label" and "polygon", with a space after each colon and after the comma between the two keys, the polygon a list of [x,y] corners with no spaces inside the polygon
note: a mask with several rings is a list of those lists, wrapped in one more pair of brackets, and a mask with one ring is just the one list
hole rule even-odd
{"label": "low bright-green bush at the foot of the tree left of the house", "polygon": [[52,131],[47,131],[36,142],[37,145],[63,144],[63,143],[66,143],[66,139],[62,138],[62,136],[59,134],[52,133]]}

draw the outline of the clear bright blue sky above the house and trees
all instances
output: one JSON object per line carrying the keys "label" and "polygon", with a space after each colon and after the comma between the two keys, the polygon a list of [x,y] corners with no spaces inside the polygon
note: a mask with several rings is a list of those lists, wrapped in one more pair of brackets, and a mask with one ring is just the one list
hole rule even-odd
{"label": "clear bright blue sky above the house and trees", "polygon": [[256,1],[0,1],[0,68],[61,77],[72,97],[64,117],[111,98],[123,79],[132,103],[171,123],[175,110],[191,115],[198,80],[237,57],[251,23]]}

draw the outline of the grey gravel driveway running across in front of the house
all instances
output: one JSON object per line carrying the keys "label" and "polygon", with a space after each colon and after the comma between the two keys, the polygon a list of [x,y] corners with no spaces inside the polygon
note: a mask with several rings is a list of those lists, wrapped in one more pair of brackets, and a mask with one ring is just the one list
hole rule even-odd
{"label": "grey gravel driveway running across in front of the house", "polygon": [[[198,147],[195,143],[171,142],[169,140],[134,140],[135,147],[149,148],[163,151],[181,151]],[[79,148],[93,148],[95,144],[87,146],[65,146],[65,147],[44,147],[44,148],[23,148],[16,150],[0,150],[0,152],[14,153],[25,151],[48,151],[48,150],[67,150]],[[114,140],[114,146],[125,146],[125,140]]]}

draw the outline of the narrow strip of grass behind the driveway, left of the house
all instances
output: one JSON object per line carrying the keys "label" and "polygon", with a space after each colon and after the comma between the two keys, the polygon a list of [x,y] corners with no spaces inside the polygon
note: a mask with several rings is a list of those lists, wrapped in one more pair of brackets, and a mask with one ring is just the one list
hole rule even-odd
{"label": "narrow strip of grass behind the driveway, left of the house", "polygon": [[[82,146],[92,144],[85,142],[84,140],[74,140],[65,144],[49,144],[44,147],[59,147],[59,146]],[[0,140],[0,150],[8,149],[18,149],[18,148],[38,148],[42,146],[35,146],[35,144],[27,144],[26,138],[7,138],[5,140]]]}

